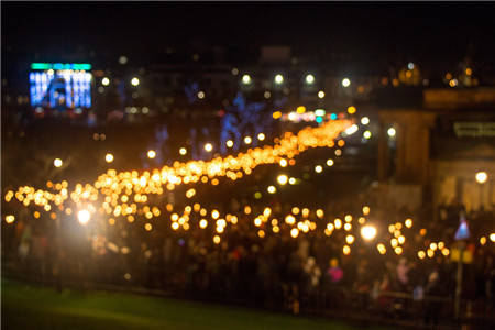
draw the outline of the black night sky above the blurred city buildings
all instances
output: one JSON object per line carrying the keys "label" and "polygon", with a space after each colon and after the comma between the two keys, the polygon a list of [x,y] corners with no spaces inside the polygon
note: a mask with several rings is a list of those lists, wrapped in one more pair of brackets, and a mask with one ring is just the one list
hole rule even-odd
{"label": "black night sky above the blurred city buildings", "polygon": [[258,46],[270,44],[290,45],[300,55],[342,53],[349,62],[365,66],[400,61],[448,66],[466,54],[481,65],[495,61],[494,3],[2,2],[1,7],[2,55],[8,54],[2,67],[16,58],[31,61],[35,54],[37,61],[70,59],[78,50],[94,51],[94,62],[117,61],[125,54],[144,65],[160,59],[167,46],[180,47],[193,40],[228,46],[239,61],[250,61]]}

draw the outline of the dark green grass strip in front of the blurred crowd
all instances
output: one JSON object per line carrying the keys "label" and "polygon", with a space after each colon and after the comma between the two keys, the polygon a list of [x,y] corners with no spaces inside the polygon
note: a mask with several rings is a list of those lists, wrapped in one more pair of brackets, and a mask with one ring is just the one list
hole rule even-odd
{"label": "dark green grass strip in front of the blurred crowd", "polygon": [[58,294],[9,279],[2,279],[1,288],[2,329],[363,329],[323,318],[132,294]]}

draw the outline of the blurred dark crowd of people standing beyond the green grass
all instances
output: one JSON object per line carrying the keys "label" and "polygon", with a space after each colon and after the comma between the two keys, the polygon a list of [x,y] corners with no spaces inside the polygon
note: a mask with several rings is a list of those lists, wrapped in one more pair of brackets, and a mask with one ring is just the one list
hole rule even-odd
{"label": "blurred dark crowd of people standing beyond the green grass", "polygon": [[[356,201],[339,205],[329,207],[326,218],[343,217],[342,206],[354,215],[361,210]],[[273,211],[282,218],[290,207],[278,204]],[[381,211],[385,212],[376,209],[376,213]],[[391,210],[386,211],[394,221]],[[404,221],[404,215],[411,212],[403,209],[395,215]],[[469,217],[471,223],[480,221]],[[161,220],[148,232],[140,219],[133,223],[123,219],[113,226],[96,220],[100,223],[88,227],[64,219],[20,219],[2,231],[4,273],[30,275],[62,287],[69,283],[140,286],[177,297],[294,314],[359,309],[397,317],[417,318],[420,314],[428,322],[452,316],[457,262],[440,253],[426,258],[417,255],[418,249],[433,241],[418,228],[435,233],[442,222],[416,218],[417,226],[404,233],[404,253],[398,255],[387,246],[382,255],[376,242],[364,240],[356,240],[350,252],[343,253],[348,232],[328,237],[321,230],[324,222],[318,223],[319,230],[297,238],[284,226],[278,233],[266,228],[262,238],[252,218],[240,216],[238,224],[229,227],[217,243],[215,232],[199,228],[194,220],[188,231],[170,230],[169,222]],[[356,229],[351,232],[359,237]],[[444,242],[452,245],[453,238]],[[490,315],[495,279],[493,243],[470,242],[474,256],[464,267],[463,298],[482,301],[482,314]]]}

